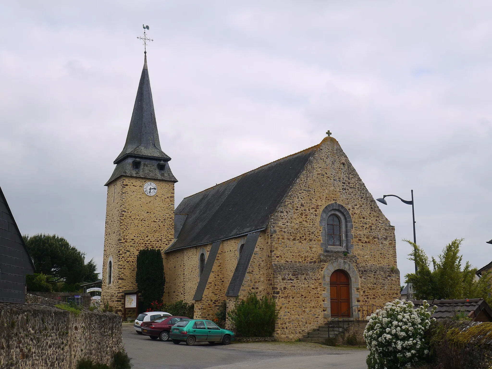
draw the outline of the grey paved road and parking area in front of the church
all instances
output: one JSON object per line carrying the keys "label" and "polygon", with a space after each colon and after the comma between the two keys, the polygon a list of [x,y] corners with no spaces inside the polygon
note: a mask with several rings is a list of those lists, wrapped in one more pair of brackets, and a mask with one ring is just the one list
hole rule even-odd
{"label": "grey paved road and parking area in front of the church", "polygon": [[135,369],[366,369],[368,351],[308,342],[200,342],[194,346],[154,341],[123,324],[123,343]]}

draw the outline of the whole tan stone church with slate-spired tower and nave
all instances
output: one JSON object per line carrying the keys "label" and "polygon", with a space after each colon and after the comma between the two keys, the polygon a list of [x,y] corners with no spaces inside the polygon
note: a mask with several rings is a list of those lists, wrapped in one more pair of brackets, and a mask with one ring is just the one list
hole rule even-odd
{"label": "whole tan stone church with slate-spired tower and nave", "polygon": [[400,296],[395,230],[333,137],[184,198],[176,207],[145,57],[123,151],[106,186],[102,299],[123,309],[136,257],[162,250],[166,302],[195,318],[250,292],[277,301],[294,340],[354,306]]}

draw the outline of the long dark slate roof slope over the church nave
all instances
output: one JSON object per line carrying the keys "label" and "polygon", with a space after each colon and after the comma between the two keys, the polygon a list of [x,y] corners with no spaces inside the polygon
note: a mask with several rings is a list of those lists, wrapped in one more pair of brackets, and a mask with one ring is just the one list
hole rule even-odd
{"label": "long dark slate roof slope over the church nave", "polygon": [[175,213],[187,215],[165,252],[263,230],[319,145],[284,157],[185,197]]}

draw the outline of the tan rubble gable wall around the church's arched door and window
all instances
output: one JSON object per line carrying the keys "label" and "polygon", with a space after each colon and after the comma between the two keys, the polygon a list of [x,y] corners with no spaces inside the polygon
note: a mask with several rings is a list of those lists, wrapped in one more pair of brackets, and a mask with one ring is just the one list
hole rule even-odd
{"label": "tan rubble gable wall around the church's arched door and window", "polygon": [[[321,248],[321,212],[335,202],[352,217],[353,250],[347,256]],[[382,306],[400,295],[394,227],[332,137],[323,140],[271,217],[270,245],[280,340],[302,337],[329,318],[329,276],[323,280],[328,266],[356,273],[355,304]]]}

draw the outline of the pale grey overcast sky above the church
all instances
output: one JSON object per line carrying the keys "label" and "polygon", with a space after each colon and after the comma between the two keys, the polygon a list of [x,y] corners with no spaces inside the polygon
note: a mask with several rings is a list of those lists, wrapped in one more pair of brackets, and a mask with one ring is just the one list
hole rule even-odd
{"label": "pale grey overcast sky above the church", "polygon": [[[102,263],[106,187],[150,26],[163,151],[184,196],[333,132],[374,198],[415,191],[417,243],[492,260],[490,1],[4,1],[0,186],[23,234]],[[411,207],[396,227],[401,279]]]}

